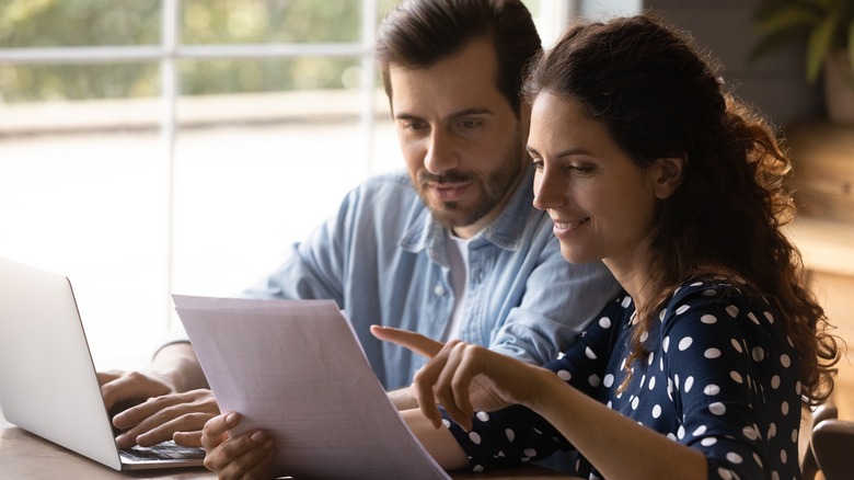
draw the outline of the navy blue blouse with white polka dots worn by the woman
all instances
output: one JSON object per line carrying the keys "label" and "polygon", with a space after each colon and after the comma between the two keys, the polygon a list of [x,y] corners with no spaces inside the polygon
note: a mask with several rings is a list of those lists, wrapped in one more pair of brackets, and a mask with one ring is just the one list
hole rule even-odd
{"label": "navy blue blouse with white polka dots worn by the woman", "polygon": [[[702,452],[709,479],[800,478],[797,355],[768,301],[720,282],[683,285],[643,338],[646,358],[632,365],[631,382],[618,392],[634,322],[632,298],[618,298],[545,368],[612,410]],[[527,408],[478,412],[471,432],[442,415],[473,471],[570,450],[570,471],[602,478]]]}

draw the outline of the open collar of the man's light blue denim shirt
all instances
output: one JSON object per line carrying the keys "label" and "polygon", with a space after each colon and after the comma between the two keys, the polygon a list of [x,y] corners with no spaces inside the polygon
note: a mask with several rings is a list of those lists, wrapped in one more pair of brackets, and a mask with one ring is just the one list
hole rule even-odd
{"label": "open collar of the man's light blue denim shirt", "polygon": [[[533,165],[529,167],[512,196],[498,217],[478,233],[472,247],[489,242],[494,245],[516,251],[522,243],[522,228],[531,213],[533,203]],[[432,218],[429,208],[423,208],[407,226],[397,244],[408,252],[427,250],[428,256],[448,266],[446,253],[447,229]]]}

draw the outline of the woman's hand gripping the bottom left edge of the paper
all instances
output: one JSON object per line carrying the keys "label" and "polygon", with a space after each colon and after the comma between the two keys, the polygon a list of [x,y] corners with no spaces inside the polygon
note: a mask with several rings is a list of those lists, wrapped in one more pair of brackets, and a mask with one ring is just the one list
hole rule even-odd
{"label": "woman's hand gripping the bottom left edge of the paper", "polygon": [[238,413],[223,413],[205,423],[201,445],[205,467],[220,479],[263,479],[270,477],[276,456],[273,438],[256,430],[230,437],[228,431],[240,423]]}

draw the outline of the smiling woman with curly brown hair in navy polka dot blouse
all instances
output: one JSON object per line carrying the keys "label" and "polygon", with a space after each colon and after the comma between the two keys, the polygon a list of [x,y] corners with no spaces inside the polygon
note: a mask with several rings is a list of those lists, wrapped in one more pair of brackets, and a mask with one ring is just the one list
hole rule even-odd
{"label": "smiling woman with curly brown hair in navy polka dot blouse", "polygon": [[[800,407],[830,395],[839,352],[781,231],[794,207],[773,133],[647,16],[572,27],[526,100],[534,205],[567,261],[601,259],[625,295],[543,367],[374,328],[432,356],[413,431],[449,469],[568,449],[585,478],[799,478]],[[259,433],[223,443],[233,419],[205,428],[221,472],[269,452]]]}

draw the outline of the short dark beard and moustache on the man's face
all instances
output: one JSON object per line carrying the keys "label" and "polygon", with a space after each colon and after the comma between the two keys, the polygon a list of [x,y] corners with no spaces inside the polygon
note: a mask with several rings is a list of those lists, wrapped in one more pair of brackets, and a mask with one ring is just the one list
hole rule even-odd
{"label": "short dark beard and moustache on the man's face", "polygon": [[[518,158],[518,157],[517,157]],[[422,201],[430,209],[432,217],[446,228],[466,227],[489,214],[523,174],[524,167],[521,161],[506,161],[500,169],[488,172],[487,178],[471,173],[450,171],[441,175],[435,175],[424,170],[418,171],[416,190]],[[472,182],[478,197],[466,210],[463,210],[457,202],[441,202],[440,206],[434,205],[425,192],[428,183],[443,184],[454,182]]]}

